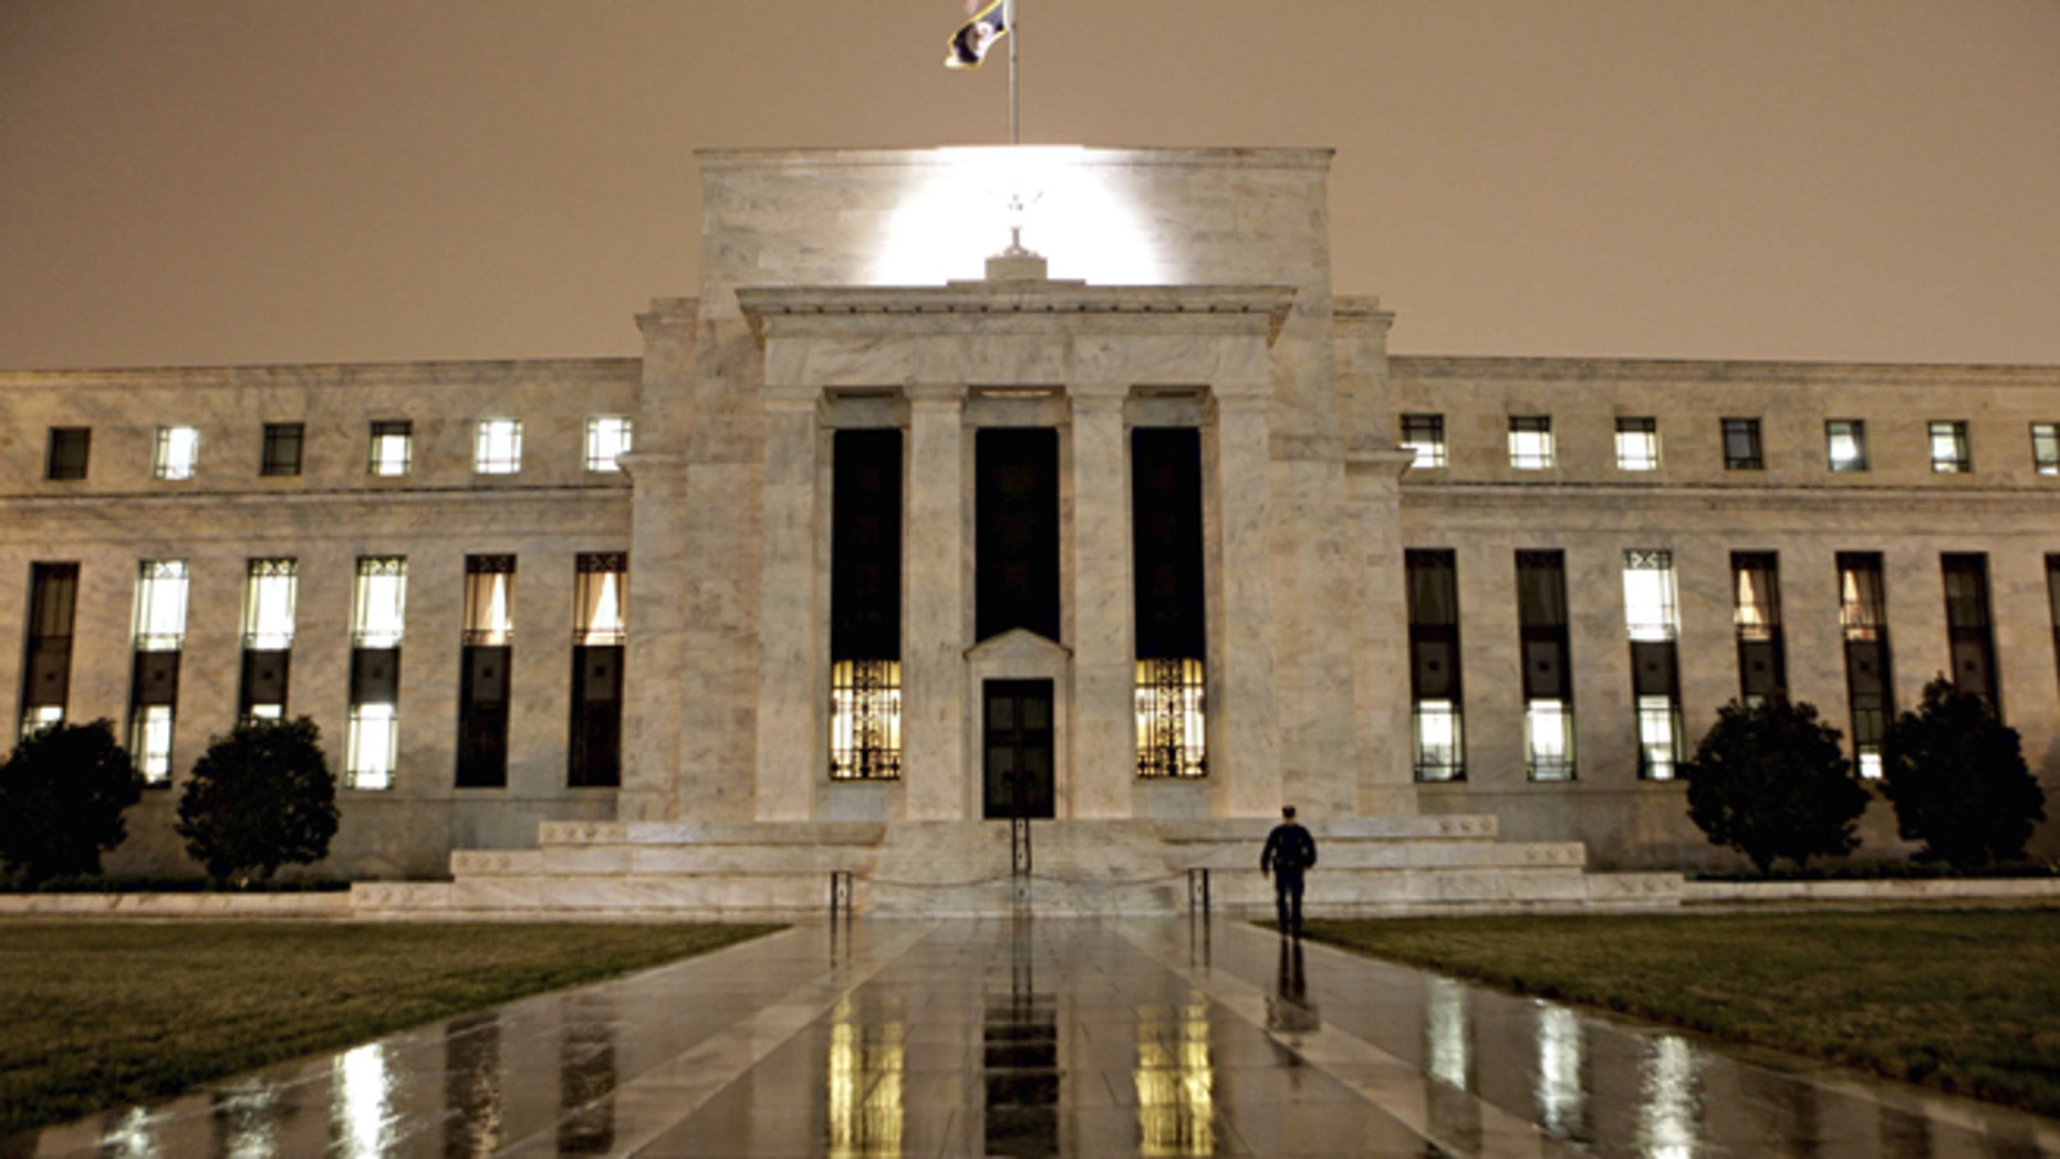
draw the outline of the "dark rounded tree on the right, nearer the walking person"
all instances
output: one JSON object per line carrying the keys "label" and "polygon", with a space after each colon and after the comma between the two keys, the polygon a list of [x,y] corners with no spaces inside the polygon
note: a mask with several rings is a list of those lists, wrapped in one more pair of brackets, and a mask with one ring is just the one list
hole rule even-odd
{"label": "dark rounded tree on the right, nearer the walking person", "polygon": [[1759,873],[1778,856],[1796,869],[1813,856],[1846,856],[1860,844],[1852,830],[1873,797],[1838,737],[1807,700],[1732,700],[1683,768],[1689,819],[1710,844],[1743,852]]}

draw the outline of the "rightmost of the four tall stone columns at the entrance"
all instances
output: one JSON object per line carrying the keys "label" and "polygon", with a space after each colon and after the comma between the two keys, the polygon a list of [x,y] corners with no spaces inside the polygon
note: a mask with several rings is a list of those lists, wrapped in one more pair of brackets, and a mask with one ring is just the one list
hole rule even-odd
{"label": "rightmost of the four tall stone columns at the entrance", "polygon": [[[1203,531],[1209,585],[1211,809],[1279,809],[1279,704],[1273,663],[1273,453],[1263,389],[1217,389]],[[1209,511],[1213,500],[1213,511]]]}

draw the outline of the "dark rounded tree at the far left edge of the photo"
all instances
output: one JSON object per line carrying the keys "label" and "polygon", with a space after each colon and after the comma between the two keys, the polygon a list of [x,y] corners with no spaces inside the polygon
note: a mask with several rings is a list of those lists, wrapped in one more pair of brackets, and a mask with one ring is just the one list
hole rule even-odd
{"label": "dark rounded tree at the far left edge of the photo", "polygon": [[31,883],[99,873],[101,854],[128,838],[122,811],[140,799],[111,721],[29,733],[0,766],[0,865]]}

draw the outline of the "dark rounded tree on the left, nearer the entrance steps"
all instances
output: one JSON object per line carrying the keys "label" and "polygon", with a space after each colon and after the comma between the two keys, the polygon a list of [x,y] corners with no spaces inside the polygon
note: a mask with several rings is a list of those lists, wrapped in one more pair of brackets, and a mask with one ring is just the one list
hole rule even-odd
{"label": "dark rounded tree on the left, nearer the entrance steps", "polygon": [[336,776],[307,716],[249,721],[212,737],[179,797],[185,852],[216,881],[270,879],[330,854]]}

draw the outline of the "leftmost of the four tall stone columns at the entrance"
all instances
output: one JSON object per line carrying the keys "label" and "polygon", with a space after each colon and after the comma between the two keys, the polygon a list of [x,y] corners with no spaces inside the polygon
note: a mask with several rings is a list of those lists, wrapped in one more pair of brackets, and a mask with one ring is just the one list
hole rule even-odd
{"label": "leftmost of the four tall stone columns at the entrance", "polygon": [[[768,387],[768,393],[772,387]],[[764,566],[758,624],[758,801],[760,821],[805,821],[820,774],[826,723],[816,657],[816,445],[814,391],[766,397]]]}

